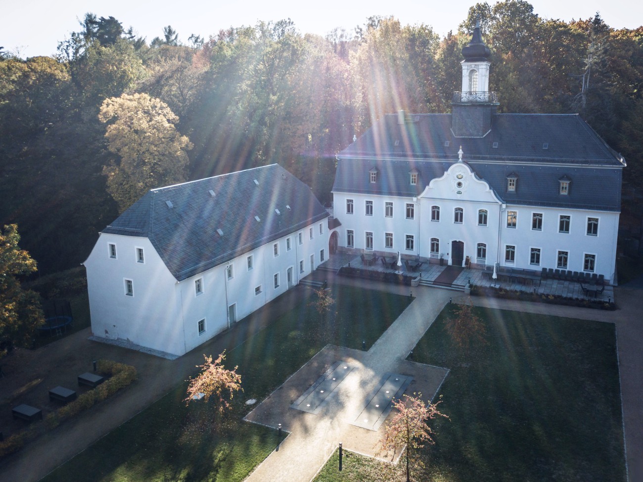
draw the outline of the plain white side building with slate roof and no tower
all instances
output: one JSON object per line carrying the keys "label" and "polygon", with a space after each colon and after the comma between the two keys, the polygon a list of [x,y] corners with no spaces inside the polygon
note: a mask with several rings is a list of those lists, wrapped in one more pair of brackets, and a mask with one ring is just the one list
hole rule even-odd
{"label": "plain white side building with slate roof and no tower", "polygon": [[276,164],[150,190],[84,263],[93,335],[187,353],[326,261],[328,216]]}

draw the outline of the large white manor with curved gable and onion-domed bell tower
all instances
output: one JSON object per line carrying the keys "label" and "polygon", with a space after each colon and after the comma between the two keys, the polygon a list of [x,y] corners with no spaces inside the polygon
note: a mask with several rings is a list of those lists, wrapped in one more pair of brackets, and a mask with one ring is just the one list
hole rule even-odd
{"label": "large white manor with curved gable and onion-domed bell tower", "polygon": [[340,249],[613,281],[625,160],[578,115],[498,114],[476,26],[451,114],[378,120],[338,154]]}

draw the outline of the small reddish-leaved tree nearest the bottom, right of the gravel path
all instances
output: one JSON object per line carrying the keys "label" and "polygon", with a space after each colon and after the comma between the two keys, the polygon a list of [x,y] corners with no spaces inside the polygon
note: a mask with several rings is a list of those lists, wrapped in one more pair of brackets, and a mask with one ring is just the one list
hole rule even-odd
{"label": "small reddish-leaved tree nearest the bottom, right of the gravel path", "polygon": [[387,425],[384,435],[379,440],[379,450],[376,456],[395,459],[395,455],[406,447],[406,482],[411,480],[411,467],[422,467],[422,461],[417,456],[418,449],[428,443],[435,444],[431,435],[433,431],[426,423],[436,417],[448,418],[437,408],[440,402],[431,403],[422,400],[421,393],[404,394],[403,399],[394,400],[393,408],[397,411],[393,420]]}

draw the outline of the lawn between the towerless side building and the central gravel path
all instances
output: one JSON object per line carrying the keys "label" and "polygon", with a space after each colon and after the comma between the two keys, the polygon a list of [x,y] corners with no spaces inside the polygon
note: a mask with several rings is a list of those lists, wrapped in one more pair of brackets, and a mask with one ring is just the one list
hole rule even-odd
{"label": "lawn between the towerless side building and the central gravel path", "polygon": [[212,431],[212,405],[185,407],[181,384],[43,480],[243,480],[278,444],[276,431],[241,421],[248,412],[243,401],[262,400],[328,343],[370,346],[411,302],[342,286],[333,292],[338,315],[320,319],[310,306],[314,293],[297,289],[291,310],[228,351],[225,365],[239,366],[244,393],[219,431]]}

